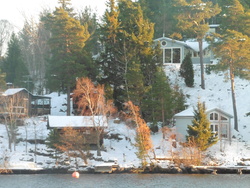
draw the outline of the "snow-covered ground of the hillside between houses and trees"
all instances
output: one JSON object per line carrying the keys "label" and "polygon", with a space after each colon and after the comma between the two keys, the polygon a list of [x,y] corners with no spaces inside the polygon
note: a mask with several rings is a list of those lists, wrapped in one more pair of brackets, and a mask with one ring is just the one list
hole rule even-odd
{"label": "snow-covered ground of the hillside between houses and trees", "polygon": [[[175,66],[167,67],[166,74],[172,84],[177,84],[182,88],[184,94],[187,96],[187,104],[190,107],[196,106],[198,99],[200,99],[206,103],[207,108],[218,107],[233,114],[230,82],[224,73],[206,74],[205,90],[201,89],[199,86],[199,66],[195,67],[195,86],[193,88],[185,86],[185,83],[183,79],[179,77],[178,69]],[[213,157],[213,162],[221,165],[234,166],[237,165],[242,158],[250,158],[250,117],[246,116],[246,113],[250,112],[250,97],[248,96],[250,93],[249,81],[236,78],[235,89],[239,118],[239,132],[233,132],[236,139],[233,139],[231,145],[229,145],[229,143],[218,142],[207,151],[207,154]],[[66,95],[58,96],[57,93],[52,93],[48,96],[52,97],[51,115],[66,115],[66,106],[63,105],[66,104]],[[44,144],[49,133],[46,125],[47,122],[45,117],[33,117],[26,120],[26,124],[18,128],[19,142],[16,146],[16,151],[10,152],[8,150],[5,126],[0,124],[0,160],[3,161],[3,158],[8,157],[9,164],[12,166],[18,166],[20,163],[29,164],[27,162],[36,162],[43,168],[58,167],[56,160],[51,157],[55,155],[54,151],[47,148]],[[95,166],[102,164],[103,162],[116,160],[121,167],[139,166],[140,160],[135,154],[136,148],[133,145],[135,130],[126,126],[123,122],[117,123],[117,121],[110,120],[107,132],[109,136],[117,135],[119,139],[104,139],[104,150],[101,152],[102,156],[97,157],[96,151],[91,151],[91,153],[94,154],[95,159],[99,160],[89,160],[88,165]],[[35,138],[38,140],[36,148],[33,142],[25,142],[26,139],[28,141],[34,141]],[[156,156],[170,156],[170,151],[173,148],[168,139],[163,139],[161,131],[152,134],[152,141]],[[37,150],[36,155],[33,152],[35,149]],[[222,149],[223,152],[220,152],[220,149]],[[81,166],[82,161],[80,159],[77,160],[79,166]],[[2,162],[0,162],[0,164],[1,163]],[[75,160],[69,161],[69,163],[65,162],[64,165],[74,168]],[[166,163],[166,165],[168,165],[168,163]],[[25,168],[29,167],[26,165]]]}

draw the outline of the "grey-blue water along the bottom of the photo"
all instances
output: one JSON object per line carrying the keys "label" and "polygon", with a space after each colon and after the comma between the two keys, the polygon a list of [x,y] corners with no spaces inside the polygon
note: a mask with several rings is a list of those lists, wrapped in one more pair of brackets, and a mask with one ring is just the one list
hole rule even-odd
{"label": "grey-blue water along the bottom of the photo", "polygon": [[0,175],[7,188],[249,188],[250,175],[71,174]]}

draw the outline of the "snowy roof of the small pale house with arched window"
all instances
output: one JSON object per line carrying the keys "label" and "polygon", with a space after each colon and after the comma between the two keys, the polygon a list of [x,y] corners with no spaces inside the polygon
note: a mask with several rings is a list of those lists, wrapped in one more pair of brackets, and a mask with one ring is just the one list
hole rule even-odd
{"label": "snowy roof of the small pale house with arched window", "polygon": [[[211,109],[207,109],[206,110],[206,114],[210,113],[210,112],[218,112],[221,113],[229,118],[233,118],[233,116],[219,108],[211,108]],[[186,110],[183,110],[177,114],[174,115],[174,118],[180,118],[180,117],[194,117],[194,108],[188,108]]]}

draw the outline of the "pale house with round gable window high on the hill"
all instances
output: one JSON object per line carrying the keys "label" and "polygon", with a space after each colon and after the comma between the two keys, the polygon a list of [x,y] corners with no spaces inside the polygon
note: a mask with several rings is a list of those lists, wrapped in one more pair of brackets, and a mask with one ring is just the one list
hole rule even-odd
{"label": "pale house with round gable window high on the hill", "polygon": [[[179,41],[165,36],[155,39],[159,42],[162,49],[163,65],[181,64],[185,56],[190,52],[193,64],[200,63],[199,44],[196,40]],[[213,53],[209,48],[209,44],[203,41],[203,60],[205,64],[210,64],[213,59]]]}

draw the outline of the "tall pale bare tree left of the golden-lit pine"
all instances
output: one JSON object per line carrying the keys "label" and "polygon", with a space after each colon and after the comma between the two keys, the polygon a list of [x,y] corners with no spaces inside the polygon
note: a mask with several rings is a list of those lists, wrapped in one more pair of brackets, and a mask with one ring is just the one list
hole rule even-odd
{"label": "tall pale bare tree left of the golden-lit pine", "polygon": [[[49,10],[44,9],[40,17],[42,18],[48,12]],[[29,78],[35,82],[38,93],[43,94],[46,82],[46,54],[49,54],[47,45],[49,32],[45,30],[43,22],[36,23],[32,17],[27,18],[25,15],[24,18],[25,24],[19,34],[20,45],[29,70]]]}

